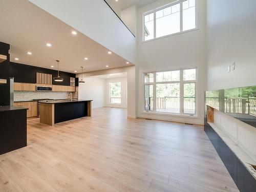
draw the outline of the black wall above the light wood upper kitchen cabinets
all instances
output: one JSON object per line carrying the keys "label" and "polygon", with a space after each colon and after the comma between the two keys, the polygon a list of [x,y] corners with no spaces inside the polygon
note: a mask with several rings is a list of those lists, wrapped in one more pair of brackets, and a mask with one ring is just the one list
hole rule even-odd
{"label": "black wall above the light wood upper kitchen cabinets", "polygon": [[62,82],[56,82],[53,77],[58,75],[58,71],[10,62],[10,75],[14,77],[14,82],[36,83],[36,73],[52,74],[52,84],[70,86],[70,77],[76,77],[74,73],[59,72],[59,76],[64,78]]}

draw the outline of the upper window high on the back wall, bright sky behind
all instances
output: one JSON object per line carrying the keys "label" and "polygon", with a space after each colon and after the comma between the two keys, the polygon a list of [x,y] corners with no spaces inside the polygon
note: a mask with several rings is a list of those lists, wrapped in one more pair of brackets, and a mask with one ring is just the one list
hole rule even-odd
{"label": "upper window high on the back wall, bright sky behind", "polygon": [[196,0],[179,0],[144,14],[143,40],[196,28]]}

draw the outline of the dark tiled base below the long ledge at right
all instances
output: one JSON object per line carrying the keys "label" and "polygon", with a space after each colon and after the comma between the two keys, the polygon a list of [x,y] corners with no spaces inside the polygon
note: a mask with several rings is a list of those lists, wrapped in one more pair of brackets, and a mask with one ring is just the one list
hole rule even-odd
{"label": "dark tiled base below the long ledge at right", "polygon": [[254,177],[249,173],[249,170],[238,159],[238,157],[230,150],[221,137],[214,131],[214,129],[212,129],[209,123],[207,123],[206,118],[204,122],[204,131],[212,145],[214,145],[215,150],[219,154],[240,192],[255,191],[256,180]]}

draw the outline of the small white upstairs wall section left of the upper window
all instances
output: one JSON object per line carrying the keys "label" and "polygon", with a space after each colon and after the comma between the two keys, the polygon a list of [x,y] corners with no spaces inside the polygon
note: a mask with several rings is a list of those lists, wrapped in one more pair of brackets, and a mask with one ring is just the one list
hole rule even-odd
{"label": "small white upstairs wall section left of the upper window", "polygon": [[121,19],[123,23],[132,31],[136,36],[136,6],[121,10]]}

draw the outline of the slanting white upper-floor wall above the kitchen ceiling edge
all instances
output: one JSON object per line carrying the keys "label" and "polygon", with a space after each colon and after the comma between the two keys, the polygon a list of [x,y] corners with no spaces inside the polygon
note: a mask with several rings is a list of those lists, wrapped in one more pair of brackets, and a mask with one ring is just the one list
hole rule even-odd
{"label": "slanting white upper-floor wall above the kitchen ceiling edge", "polygon": [[29,1],[119,56],[135,63],[135,37],[103,0]]}

